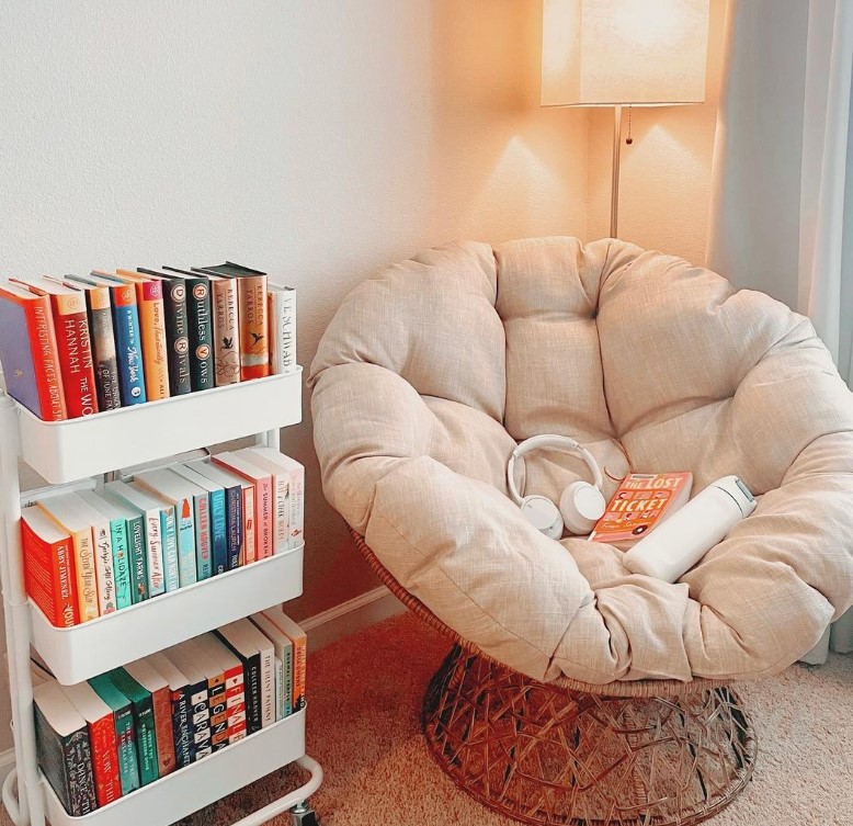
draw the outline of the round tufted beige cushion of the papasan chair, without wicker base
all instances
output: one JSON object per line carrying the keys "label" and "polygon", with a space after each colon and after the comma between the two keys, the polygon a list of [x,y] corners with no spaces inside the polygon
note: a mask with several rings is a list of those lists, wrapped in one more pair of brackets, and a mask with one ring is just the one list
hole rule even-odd
{"label": "round tufted beige cushion of the papasan chair, without wicker base", "polygon": [[[537,679],[758,677],[853,602],[853,395],[810,323],[614,240],[455,244],[357,286],[309,378],[323,490],[444,623]],[[674,585],[549,540],[507,497],[516,442],[759,496]],[[553,499],[582,462],[526,457]]]}

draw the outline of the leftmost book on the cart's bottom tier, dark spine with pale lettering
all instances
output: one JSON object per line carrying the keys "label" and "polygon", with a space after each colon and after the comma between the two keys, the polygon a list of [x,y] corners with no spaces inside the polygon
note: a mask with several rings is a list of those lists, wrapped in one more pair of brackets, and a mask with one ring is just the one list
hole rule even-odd
{"label": "leftmost book on the cart's bottom tier, dark spine with pale lettering", "polygon": [[80,817],[98,808],[89,726],[58,682],[33,689],[38,765],[65,811]]}

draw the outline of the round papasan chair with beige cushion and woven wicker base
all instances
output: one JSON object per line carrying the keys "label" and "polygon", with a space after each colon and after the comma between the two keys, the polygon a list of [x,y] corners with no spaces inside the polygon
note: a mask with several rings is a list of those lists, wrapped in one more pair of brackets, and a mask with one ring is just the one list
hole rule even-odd
{"label": "round papasan chair with beige cushion and woven wicker base", "polygon": [[[742,790],[728,686],[782,671],[853,602],[853,395],[808,319],[606,239],[453,244],[345,298],[309,383],[323,491],[382,580],[446,633],[433,757],[518,821],[690,824]],[[735,474],[758,507],[674,584],[539,533],[507,462],[570,435],[604,469]],[[555,500],[571,453],[525,456]]]}

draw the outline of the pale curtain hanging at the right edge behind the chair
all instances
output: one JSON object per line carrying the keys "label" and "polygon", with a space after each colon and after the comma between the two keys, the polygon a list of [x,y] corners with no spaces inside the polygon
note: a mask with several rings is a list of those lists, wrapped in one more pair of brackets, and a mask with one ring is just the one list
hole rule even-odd
{"label": "pale curtain hanging at the right edge behind the chair", "polygon": [[852,77],[853,0],[729,0],[707,265],[809,316],[851,386]]}

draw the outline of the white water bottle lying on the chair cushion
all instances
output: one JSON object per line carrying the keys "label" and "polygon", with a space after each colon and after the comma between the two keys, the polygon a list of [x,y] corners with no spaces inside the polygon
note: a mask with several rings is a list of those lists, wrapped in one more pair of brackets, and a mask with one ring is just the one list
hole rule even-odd
{"label": "white water bottle lying on the chair cushion", "polygon": [[634,545],[623,557],[625,567],[674,582],[753,510],[749,488],[737,476],[724,476]]}

